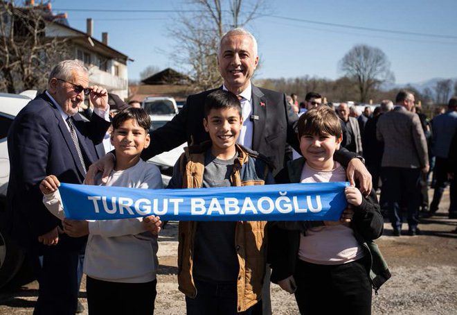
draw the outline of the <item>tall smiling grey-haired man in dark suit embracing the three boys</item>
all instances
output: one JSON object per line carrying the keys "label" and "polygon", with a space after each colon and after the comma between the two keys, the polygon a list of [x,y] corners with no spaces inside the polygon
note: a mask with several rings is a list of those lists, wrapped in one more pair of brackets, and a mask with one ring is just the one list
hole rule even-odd
{"label": "tall smiling grey-haired man in dark suit embracing the three boys", "polygon": [[[251,83],[259,60],[257,42],[251,33],[242,28],[228,31],[220,40],[217,56],[219,73],[224,78],[224,85],[219,89],[237,95],[242,105],[244,122],[238,142],[269,157],[275,167],[274,173],[278,173],[283,167],[286,142],[296,151],[300,151],[294,128],[298,116],[287,104],[285,94],[262,89]],[[181,112],[168,124],[154,130],[151,134],[151,146],[143,151],[141,157],[147,160],[184,142],[199,144],[209,140],[203,127],[204,101],[206,96],[215,90],[188,96]],[[370,174],[360,160],[351,160],[356,155],[348,151],[337,155],[339,162],[344,165],[349,163],[348,178],[354,178],[356,173],[364,190],[370,191]],[[91,167],[88,179],[93,178],[98,170],[103,171],[102,177],[105,178],[113,165],[112,155],[107,155]],[[265,297],[269,298],[266,295]]]}

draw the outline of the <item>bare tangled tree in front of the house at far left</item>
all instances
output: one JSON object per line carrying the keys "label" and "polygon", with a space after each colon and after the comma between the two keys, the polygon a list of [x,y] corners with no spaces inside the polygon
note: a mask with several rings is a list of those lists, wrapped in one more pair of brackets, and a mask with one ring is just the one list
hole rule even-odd
{"label": "bare tangled tree in front of the house at far left", "polygon": [[45,36],[40,6],[0,1],[0,89],[10,93],[40,89],[56,62],[69,56],[65,39]]}

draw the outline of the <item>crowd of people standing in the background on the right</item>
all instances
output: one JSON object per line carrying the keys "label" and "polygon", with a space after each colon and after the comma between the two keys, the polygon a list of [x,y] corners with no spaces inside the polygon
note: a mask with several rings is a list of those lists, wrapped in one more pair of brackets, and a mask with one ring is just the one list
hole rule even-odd
{"label": "crowd of people standing in the background on the right", "polygon": [[[363,155],[382,210],[391,219],[393,235],[402,235],[402,210],[407,212],[409,235],[420,234],[420,216],[436,214],[448,185],[448,216],[457,219],[456,96],[449,99],[447,109],[436,106],[428,116],[420,103],[415,103],[413,93],[406,90],[397,94],[395,105],[391,100],[374,106],[324,103],[317,92],[308,92],[298,106],[296,94],[288,100],[298,117],[321,105],[337,112],[343,128],[341,145]],[[434,189],[431,201],[429,189]]]}

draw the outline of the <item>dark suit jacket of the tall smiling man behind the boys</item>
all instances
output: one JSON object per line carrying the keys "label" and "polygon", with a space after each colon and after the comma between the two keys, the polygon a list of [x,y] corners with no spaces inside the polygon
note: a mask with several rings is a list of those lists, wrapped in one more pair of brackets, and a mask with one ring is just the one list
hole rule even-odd
{"label": "dark suit jacket of the tall smiling man behind the boys", "polygon": [[[199,144],[209,140],[203,128],[204,103],[206,96],[215,90],[190,95],[172,121],[152,132],[152,143],[143,151],[143,159],[170,151],[184,142]],[[252,110],[258,116],[253,120],[252,149],[269,157],[276,173],[283,167],[286,142],[300,152],[294,129],[298,117],[287,106],[285,94],[255,85],[252,85]]]}

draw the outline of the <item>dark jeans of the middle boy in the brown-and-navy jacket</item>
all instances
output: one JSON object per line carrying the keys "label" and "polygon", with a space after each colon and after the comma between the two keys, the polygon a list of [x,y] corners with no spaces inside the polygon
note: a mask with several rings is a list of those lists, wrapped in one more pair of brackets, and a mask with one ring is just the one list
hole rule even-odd
{"label": "dark jeans of the middle boy in the brown-and-navy jacket", "polygon": [[[186,296],[187,315],[251,315],[251,308],[238,313],[237,284],[217,284],[195,280],[197,296]],[[261,303],[261,302],[260,302]]]}

